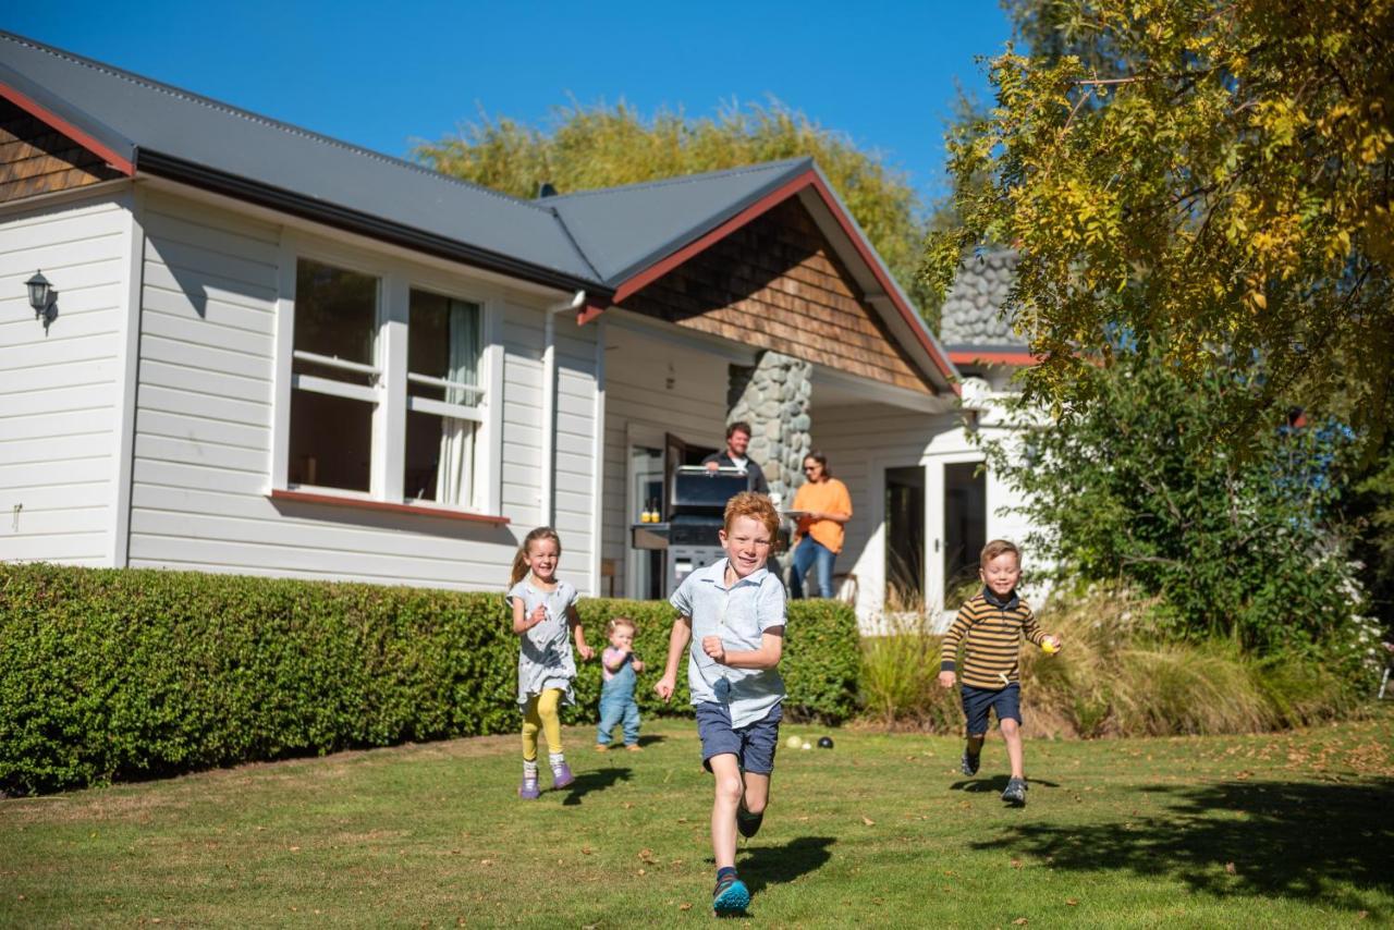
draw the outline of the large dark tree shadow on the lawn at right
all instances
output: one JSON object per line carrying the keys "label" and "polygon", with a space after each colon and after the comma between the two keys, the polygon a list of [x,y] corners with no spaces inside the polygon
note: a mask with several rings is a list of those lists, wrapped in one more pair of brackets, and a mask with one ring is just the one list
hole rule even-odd
{"label": "large dark tree shadow on the lawn at right", "polygon": [[1216,895],[1320,897],[1355,908],[1368,902],[1338,883],[1394,892],[1394,778],[1142,791],[1167,810],[1122,823],[1026,823],[973,846],[1050,856],[1057,870],[1167,874]]}

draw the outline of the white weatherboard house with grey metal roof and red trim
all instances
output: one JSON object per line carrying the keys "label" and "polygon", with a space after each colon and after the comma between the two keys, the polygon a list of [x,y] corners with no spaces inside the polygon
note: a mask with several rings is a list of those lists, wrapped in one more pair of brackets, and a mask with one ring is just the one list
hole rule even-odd
{"label": "white weatherboard house with grey metal roof and red trim", "polygon": [[521,201],[0,33],[0,559],[499,590],[555,524],[652,597],[739,414],[870,625],[1020,534],[953,358],[810,160]]}

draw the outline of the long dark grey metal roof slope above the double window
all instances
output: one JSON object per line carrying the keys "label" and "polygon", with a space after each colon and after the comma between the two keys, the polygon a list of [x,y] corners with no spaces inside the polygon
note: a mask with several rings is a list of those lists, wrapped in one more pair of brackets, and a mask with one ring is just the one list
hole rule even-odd
{"label": "long dark grey metal roof slope above the double window", "polygon": [[[0,81],[135,163],[138,170],[280,191],[302,209],[424,230],[477,261],[556,283],[599,277],[548,208],[248,113],[0,32]],[[188,177],[185,177],[188,176]],[[252,191],[229,190],[251,197]],[[251,199],[256,199],[251,197]],[[286,205],[296,212],[296,205]],[[390,237],[390,236],[389,236]],[[492,261],[491,261],[492,259]]]}

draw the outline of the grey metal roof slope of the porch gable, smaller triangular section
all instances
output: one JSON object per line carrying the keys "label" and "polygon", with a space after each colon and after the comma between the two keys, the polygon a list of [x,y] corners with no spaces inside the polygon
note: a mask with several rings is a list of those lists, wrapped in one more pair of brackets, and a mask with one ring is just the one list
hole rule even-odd
{"label": "grey metal roof slope of the porch gable, smaller triangular section", "polygon": [[537,204],[558,212],[581,251],[615,287],[811,167],[811,158],[785,159],[562,194]]}

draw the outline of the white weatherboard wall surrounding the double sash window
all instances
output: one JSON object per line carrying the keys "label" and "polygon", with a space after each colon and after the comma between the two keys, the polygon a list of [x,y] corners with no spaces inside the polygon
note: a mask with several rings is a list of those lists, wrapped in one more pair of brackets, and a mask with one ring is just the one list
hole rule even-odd
{"label": "white weatherboard wall surrounding the double sash window", "polygon": [[[170,195],[145,211],[145,286],[130,563],[500,590],[538,519],[542,314],[499,294],[506,527],[353,506],[272,502],[280,230]],[[441,273],[432,275],[439,279]],[[495,293],[493,289],[489,293]],[[588,512],[594,335],[560,323],[558,521]],[[588,420],[587,420],[588,417]],[[563,574],[588,590],[590,524],[567,524]]]}

